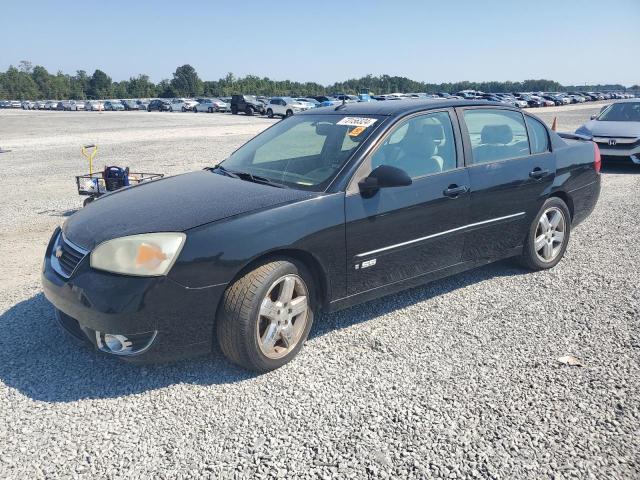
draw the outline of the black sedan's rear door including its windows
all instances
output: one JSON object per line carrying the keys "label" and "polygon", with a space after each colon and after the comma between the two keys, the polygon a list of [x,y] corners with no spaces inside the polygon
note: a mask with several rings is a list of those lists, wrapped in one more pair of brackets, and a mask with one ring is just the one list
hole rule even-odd
{"label": "black sedan's rear door including its windows", "polygon": [[458,113],[471,184],[463,258],[512,254],[523,245],[555,178],[547,129],[515,110],[470,107]]}

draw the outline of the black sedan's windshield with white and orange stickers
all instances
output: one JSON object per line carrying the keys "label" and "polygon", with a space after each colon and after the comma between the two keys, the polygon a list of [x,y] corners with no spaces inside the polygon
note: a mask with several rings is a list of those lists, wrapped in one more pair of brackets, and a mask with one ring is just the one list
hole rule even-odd
{"label": "black sedan's windshield with white and orange stickers", "polygon": [[236,150],[222,166],[301,190],[322,191],[383,117],[296,115]]}

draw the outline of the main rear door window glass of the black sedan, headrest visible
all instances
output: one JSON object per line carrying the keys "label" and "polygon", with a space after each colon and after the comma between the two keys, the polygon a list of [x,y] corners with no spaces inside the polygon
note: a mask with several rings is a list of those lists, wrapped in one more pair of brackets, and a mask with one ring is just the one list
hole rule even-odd
{"label": "main rear door window glass of the black sedan, headrest visible", "polygon": [[497,109],[464,111],[473,163],[488,163],[529,155],[524,119],[519,112]]}

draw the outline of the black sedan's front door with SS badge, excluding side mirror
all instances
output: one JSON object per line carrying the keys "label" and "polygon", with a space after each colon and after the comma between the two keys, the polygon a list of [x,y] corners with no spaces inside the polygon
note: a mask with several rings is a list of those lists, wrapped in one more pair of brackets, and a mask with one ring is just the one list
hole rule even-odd
{"label": "black sedan's front door with SS badge, excluding side mirror", "polygon": [[[356,174],[345,198],[349,295],[460,262],[469,177],[453,115],[443,110],[401,121]],[[363,197],[354,182],[380,165],[403,169],[412,184]]]}

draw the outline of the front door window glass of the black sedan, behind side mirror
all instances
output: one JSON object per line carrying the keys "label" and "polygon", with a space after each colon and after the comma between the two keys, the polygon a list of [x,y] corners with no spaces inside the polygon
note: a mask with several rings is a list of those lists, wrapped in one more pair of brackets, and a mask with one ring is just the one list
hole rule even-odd
{"label": "front door window glass of the black sedan, behind side mirror", "polygon": [[376,150],[371,167],[391,165],[411,178],[456,168],[455,137],[447,112],[414,117],[403,122]]}

